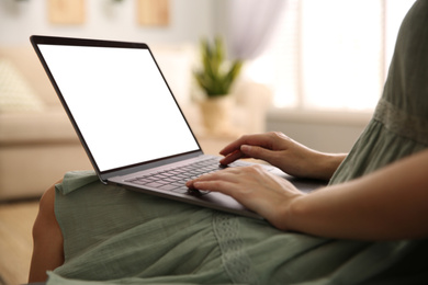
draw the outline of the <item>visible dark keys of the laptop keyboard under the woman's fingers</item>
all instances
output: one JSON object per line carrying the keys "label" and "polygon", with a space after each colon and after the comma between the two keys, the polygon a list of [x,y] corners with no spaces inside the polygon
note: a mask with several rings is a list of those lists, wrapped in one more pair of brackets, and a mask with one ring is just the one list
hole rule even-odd
{"label": "visible dark keys of the laptop keyboard under the woman's fingers", "polygon": [[[177,193],[189,193],[192,192],[185,186],[185,182],[195,179],[205,173],[212,173],[228,167],[241,167],[246,166],[245,162],[235,161],[229,166],[221,166],[218,158],[209,158],[187,166],[180,166],[177,168],[170,168],[167,170],[151,172],[142,176],[132,178],[125,180],[138,185],[145,185],[156,187],[166,191],[172,191]],[[209,191],[202,192],[194,190],[193,194],[207,194]]]}

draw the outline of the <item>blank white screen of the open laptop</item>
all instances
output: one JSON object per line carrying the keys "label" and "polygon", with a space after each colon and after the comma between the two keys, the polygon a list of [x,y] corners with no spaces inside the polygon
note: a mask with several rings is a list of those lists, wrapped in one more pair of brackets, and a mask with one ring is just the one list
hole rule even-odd
{"label": "blank white screen of the open laptop", "polygon": [[200,149],[147,48],[38,48],[100,171]]}

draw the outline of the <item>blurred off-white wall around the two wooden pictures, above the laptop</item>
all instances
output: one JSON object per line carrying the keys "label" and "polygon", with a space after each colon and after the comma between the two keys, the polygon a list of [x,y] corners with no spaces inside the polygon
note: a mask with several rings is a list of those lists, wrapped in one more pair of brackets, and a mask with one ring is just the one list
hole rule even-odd
{"label": "blurred off-white wall around the two wooden pictures, above the laptop", "polygon": [[86,0],[82,25],[53,25],[47,0],[1,0],[0,46],[27,45],[32,34],[144,43],[196,43],[214,33],[214,0],[170,0],[167,27],[140,26],[135,0]]}

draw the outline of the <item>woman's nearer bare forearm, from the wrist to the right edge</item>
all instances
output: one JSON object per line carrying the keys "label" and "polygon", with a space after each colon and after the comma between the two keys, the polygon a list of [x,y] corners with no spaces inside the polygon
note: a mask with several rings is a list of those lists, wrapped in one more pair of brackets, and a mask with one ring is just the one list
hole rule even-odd
{"label": "woman's nearer bare forearm, from the wrist to the right edge", "polygon": [[428,237],[428,151],[293,201],[291,230],[347,239]]}

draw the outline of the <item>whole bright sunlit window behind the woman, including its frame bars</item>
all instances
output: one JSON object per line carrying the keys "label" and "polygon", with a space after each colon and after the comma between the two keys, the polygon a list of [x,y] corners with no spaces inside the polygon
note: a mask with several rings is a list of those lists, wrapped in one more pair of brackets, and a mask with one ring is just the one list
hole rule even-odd
{"label": "whole bright sunlit window behind the woman, including its frame bars", "polygon": [[275,107],[373,110],[399,24],[415,0],[288,0],[272,43],[248,68]]}

